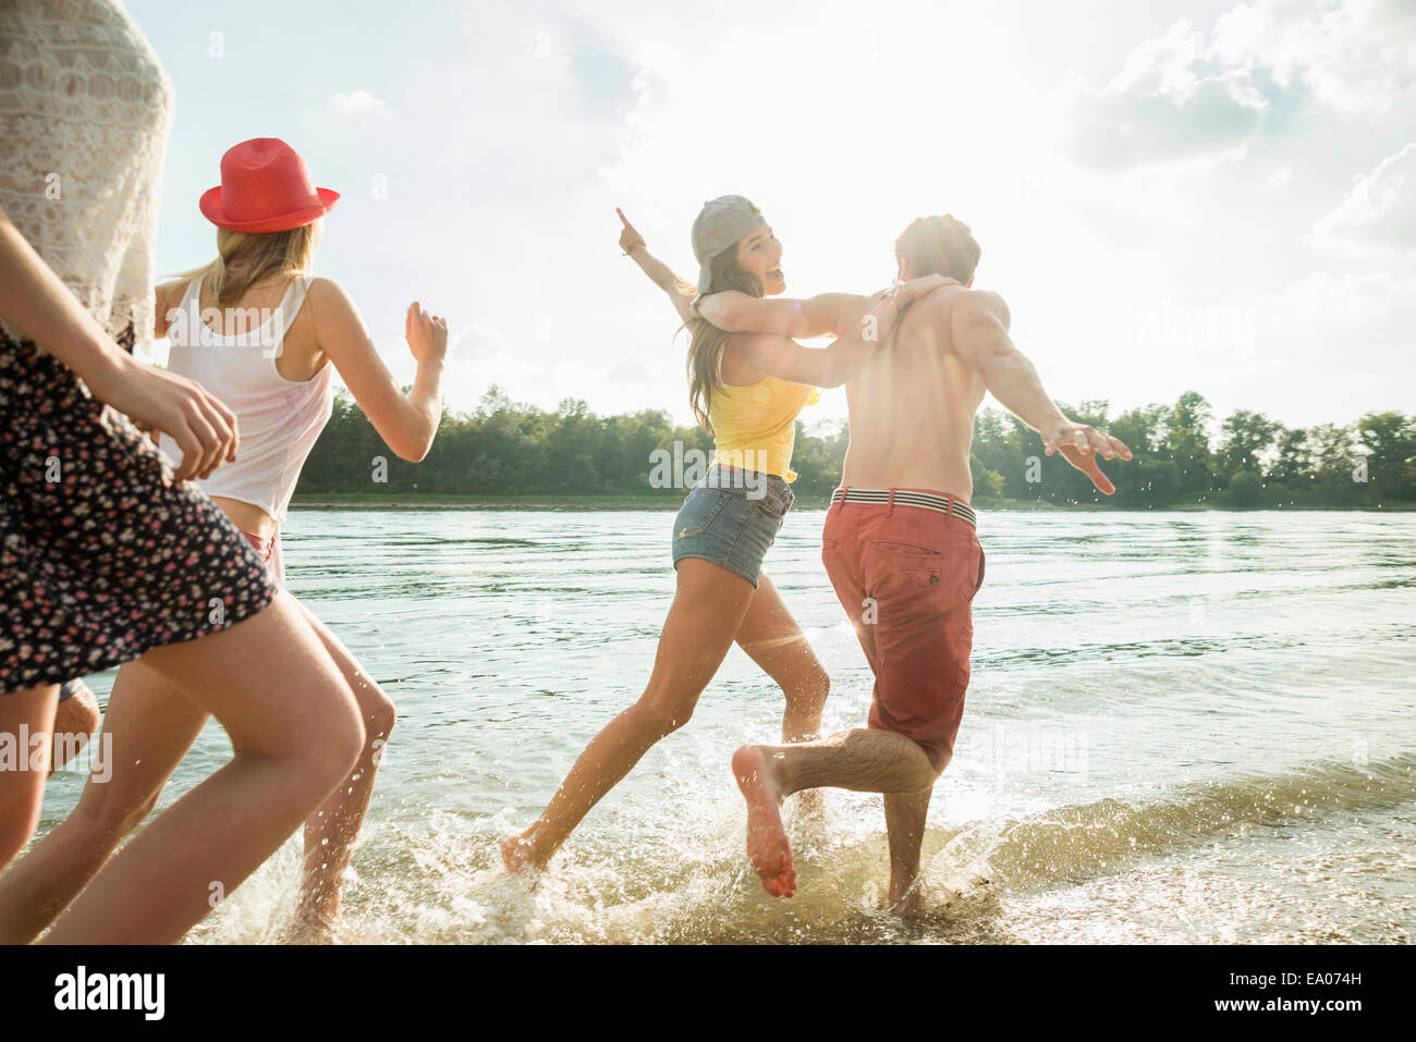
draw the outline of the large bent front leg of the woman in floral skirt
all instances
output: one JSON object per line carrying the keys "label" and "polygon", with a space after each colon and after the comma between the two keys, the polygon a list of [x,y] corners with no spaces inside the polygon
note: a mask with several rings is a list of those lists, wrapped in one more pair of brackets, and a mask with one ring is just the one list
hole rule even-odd
{"label": "large bent front leg of the woman in floral skirt", "polygon": [[289,593],[144,661],[221,721],[234,756],[99,871],[48,943],[180,940],[275,852],[362,749],[348,685]]}

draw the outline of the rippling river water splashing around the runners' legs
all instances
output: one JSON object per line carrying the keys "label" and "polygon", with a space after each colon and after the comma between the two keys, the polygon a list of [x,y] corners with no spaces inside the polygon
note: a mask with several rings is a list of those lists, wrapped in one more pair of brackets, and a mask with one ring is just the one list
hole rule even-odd
{"label": "rippling river water splashing around the runners' legs", "polygon": [[[794,511],[767,573],[833,677],[871,675]],[[994,513],[973,680],[925,841],[879,910],[879,797],[790,820],[766,895],[728,757],[782,695],[736,648],[531,888],[497,845],[641,691],[673,592],[661,511],[295,511],[289,586],[399,706],[348,934],[442,941],[1416,940],[1416,514]],[[112,674],[89,678],[106,699]],[[297,698],[300,692],[292,691]],[[163,806],[229,755],[208,726]],[[50,786],[41,832],[82,776]],[[297,840],[190,936],[279,936]]]}

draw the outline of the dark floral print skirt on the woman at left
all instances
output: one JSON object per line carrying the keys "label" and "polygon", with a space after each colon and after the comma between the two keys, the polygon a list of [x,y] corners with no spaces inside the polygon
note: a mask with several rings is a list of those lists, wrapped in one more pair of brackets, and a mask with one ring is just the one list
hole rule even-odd
{"label": "dark floral print skirt on the woman at left", "polygon": [[0,331],[0,694],[224,630],[275,589],[126,416]]}

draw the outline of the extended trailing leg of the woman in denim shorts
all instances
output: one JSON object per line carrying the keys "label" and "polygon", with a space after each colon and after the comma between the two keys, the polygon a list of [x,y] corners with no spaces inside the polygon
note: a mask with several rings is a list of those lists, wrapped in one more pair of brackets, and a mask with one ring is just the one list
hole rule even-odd
{"label": "extended trailing leg of the woman in denim shorts", "polygon": [[708,561],[678,562],[678,588],[664,620],[644,694],[595,736],[530,828],[501,847],[507,869],[544,868],[589,810],[658,739],[688,722],[752,599],[752,583]]}

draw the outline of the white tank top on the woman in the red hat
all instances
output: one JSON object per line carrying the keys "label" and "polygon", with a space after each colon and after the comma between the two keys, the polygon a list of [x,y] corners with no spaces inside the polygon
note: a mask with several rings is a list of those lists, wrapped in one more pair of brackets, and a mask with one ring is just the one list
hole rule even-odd
{"label": "white tank top on the woman in the red hat", "polygon": [[[235,463],[222,463],[198,486],[208,496],[259,507],[283,525],[300,469],[334,408],[334,367],[326,364],[307,381],[286,379],[275,367],[285,333],[304,303],[303,276],[290,282],[262,326],[235,336],[221,336],[201,321],[202,282],[187,283],[171,316],[167,368],[197,381],[236,413],[241,446]],[[160,446],[169,459],[181,459],[169,435]]]}

